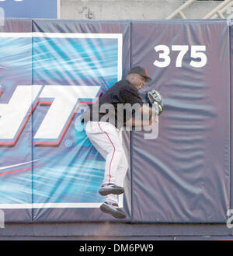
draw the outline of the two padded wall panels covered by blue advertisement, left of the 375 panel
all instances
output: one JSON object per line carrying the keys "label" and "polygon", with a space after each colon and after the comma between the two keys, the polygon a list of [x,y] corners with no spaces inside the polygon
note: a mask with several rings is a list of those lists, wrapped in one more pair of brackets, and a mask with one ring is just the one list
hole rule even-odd
{"label": "two padded wall panels covered by blue advertisement, left of the 375 panel", "polygon": [[[80,114],[83,103],[94,102],[122,78],[122,70],[129,71],[130,22],[6,19],[3,32],[12,33],[1,38],[0,125],[20,124],[12,139],[6,128],[8,137],[0,132],[5,221],[117,221],[99,210],[105,161],[85,135]],[[14,120],[5,117],[4,103]],[[22,124],[17,109],[25,111]],[[123,142],[130,163],[129,132],[123,132]],[[120,205],[130,221],[130,171],[125,188]]]}

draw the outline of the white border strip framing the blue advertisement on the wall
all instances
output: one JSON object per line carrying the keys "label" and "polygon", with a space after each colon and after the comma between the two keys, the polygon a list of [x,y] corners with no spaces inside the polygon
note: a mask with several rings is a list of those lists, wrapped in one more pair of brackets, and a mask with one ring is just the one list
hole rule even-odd
{"label": "white border strip framing the blue advertisement on the wall", "polygon": [[[57,0],[59,1],[59,0]],[[121,33],[0,33],[1,37],[50,37],[50,38],[117,38],[118,39],[118,75],[122,79],[123,37]],[[0,209],[36,209],[36,208],[99,208],[100,203],[35,203],[35,204],[0,204]],[[119,207],[123,207],[123,195],[119,196]]]}

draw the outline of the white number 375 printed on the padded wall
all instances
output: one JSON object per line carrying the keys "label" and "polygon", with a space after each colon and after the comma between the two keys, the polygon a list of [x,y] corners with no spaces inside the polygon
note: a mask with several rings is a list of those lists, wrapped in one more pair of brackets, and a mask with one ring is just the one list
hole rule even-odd
{"label": "white number 375 printed on the padded wall", "polygon": [[[205,45],[172,45],[172,51],[179,51],[179,54],[176,58],[176,67],[182,67],[183,57],[187,51],[191,49],[190,57],[193,58],[190,61],[190,66],[194,68],[202,68],[207,64],[207,55],[203,52],[206,51]],[[154,65],[158,68],[165,68],[169,66],[171,62],[170,48],[167,45],[159,44],[155,46],[155,51],[159,51],[158,60],[155,60]],[[198,58],[197,60],[194,60]]]}

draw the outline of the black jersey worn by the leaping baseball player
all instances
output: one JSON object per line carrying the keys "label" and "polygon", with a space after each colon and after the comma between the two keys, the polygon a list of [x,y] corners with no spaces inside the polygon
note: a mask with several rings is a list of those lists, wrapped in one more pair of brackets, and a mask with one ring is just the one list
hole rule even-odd
{"label": "black jersey worn by the leaping baseball player", "polygon": [[[135,103],[137,104],[134,105]],[[134,105],[133,109],[136,110],[142,104],[137,89],[129,81],[120,80],[103,93],[97,103],[89,105],[89,109],[82,114],[81,119],[82,122],[109,121],[117,128],[121,128],[132,117],[130,113],[132,106]]]}

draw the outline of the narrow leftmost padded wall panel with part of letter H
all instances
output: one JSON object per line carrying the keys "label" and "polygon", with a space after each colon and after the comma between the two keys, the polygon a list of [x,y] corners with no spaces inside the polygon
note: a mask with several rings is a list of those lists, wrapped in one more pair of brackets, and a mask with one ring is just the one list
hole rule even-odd
{"label": "narrow leftmost padded wall panel with part of letter H", "polygon": [[32,220],[31,23],[7,19],[0,26],[0,209],[9,222]]}

